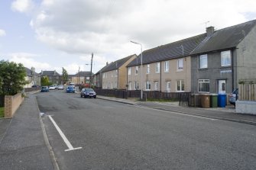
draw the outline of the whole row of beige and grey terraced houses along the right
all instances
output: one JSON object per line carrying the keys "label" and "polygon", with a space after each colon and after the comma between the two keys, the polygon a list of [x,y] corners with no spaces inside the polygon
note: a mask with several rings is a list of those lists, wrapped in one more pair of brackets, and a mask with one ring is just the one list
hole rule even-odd
{"label": "whole row of beige and grey terraced houses along the right", "polygon": [[[142,85],[141,85],[142,74]],[[256,79],[256,20],[144,50],[96,73],[102,89],[231,93]]]}

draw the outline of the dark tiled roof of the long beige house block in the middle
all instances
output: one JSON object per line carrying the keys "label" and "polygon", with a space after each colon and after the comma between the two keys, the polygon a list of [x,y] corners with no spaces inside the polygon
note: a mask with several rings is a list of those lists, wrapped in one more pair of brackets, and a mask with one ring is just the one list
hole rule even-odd
{"label": "dark tiled roof of the long beige house block in the middle", "polygon": [[[155,47],[142,52],[142,63],[154,63],[173,59],[180,56],[189,56],[190,53],[201,43],[206,37],[206,34],[199,34],[194,37],[179,40],[173,43],[168,43],[160,47]],[[128,66],[138,66],[141,64],[141,54],[137,59],[134,59]]]}

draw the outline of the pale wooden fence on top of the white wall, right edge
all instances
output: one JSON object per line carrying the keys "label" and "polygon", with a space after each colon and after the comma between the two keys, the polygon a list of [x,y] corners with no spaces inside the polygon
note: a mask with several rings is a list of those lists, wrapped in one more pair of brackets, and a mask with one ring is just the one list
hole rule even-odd
{"label": "pale wooden fence on top of the white wall, right edge", "polygon": [[238,85],[239,101],[256,101],[256,83],[244,83]]}

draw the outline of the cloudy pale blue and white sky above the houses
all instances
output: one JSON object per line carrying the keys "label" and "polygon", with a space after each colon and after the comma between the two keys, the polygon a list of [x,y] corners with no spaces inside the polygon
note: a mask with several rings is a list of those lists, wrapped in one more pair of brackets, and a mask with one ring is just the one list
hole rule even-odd
{"label": "cloudy pale blue and white sky above the houses", "polygon": [[96,73],[143,50],[256,19],[255,0],[0,0],[0,60]]}

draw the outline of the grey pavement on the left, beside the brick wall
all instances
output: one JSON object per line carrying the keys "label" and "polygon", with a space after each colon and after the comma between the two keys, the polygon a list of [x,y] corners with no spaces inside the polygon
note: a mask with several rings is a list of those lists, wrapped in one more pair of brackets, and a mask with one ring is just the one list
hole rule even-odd
{"label": "grey pavement on the left, beside the brick wall", "polygon": [[2,169],[53,169],[34,95],[24,99],[12,118],[0,143],[0,157]]}

